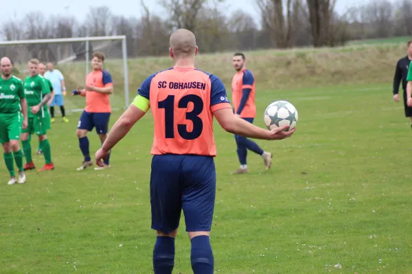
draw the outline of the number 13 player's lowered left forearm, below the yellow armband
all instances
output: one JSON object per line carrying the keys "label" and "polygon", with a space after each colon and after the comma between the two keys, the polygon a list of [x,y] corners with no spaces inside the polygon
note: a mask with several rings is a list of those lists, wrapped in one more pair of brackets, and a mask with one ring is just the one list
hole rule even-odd
{"label": "number 13 player's lowered left forearm, below the yellow armband", "polygon": [[146,114],[146,112],[140,110],[135,105],[130,105],[128,107],[128,109],[116,121],[115,125],[113,125],[102,147],[95,153],[96,164],[102,166],[102,160],[106,158],[108,152],[117,144],[117,142],[126,136],[133,125],[135,125],[135,123],[139,121],[144,114]]}

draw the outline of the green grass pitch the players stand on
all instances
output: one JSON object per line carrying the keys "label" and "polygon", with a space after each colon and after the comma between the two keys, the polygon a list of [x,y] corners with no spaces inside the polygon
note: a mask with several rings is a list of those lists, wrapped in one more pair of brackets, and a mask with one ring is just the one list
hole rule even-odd
{"label": "green grass pitch the players stand on", "polygon": [[[412,132],[390,89],[258,90],[257,125],[271,101],[299,111],[293,138],[258,140],[275,155],[268,172],[249,153],[251,172],[229,175],[238,167],[235,141],[216,125],[218,273],[412,272]],[[54,171],[27,172],[27,184],[8,186],[0,165],[0,273],[152,273],[150,118],[115,147],[106,171],[76,171],[78,114],[49,132]],[[96,151],[94,132],[89,140]],[[42,156],[34,159],[43,165]],[[174,273],[188,274],[184,229],[182,216]]]}

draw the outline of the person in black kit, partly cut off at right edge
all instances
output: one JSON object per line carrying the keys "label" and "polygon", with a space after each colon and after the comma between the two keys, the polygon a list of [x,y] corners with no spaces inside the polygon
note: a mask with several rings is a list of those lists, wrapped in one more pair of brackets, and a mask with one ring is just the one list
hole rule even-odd
{"label": "person in black kit, partly cut off at right edge", "polygon": [[405,116],[409,117],[411,120],[411,127],[412,127],[412,108],[407,103],[407,75],[409,69],[411,69],[411,61],[412,61],[412,40],[410,40],[407,44],[407,55],[404,58],[401,58],[396,63],[395,75],[393,76],[393,100],[398,102],[399,101],[399,85],[402,82],[402,89],[404,90],[403,100],[404,100],[404,110]]}

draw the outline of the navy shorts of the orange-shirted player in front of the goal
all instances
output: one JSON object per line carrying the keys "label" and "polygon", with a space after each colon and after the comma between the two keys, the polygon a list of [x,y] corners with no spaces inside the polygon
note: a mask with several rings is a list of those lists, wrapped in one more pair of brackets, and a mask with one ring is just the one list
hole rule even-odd
{"label": "navy shorts of the orange-shirted player in front of the goal", "polygon": [[96,128],[98,134],[108,132],[108,120],[110,112],[86,112],[83,111],[78,123],[78,129],[87,129],[89,132]]}

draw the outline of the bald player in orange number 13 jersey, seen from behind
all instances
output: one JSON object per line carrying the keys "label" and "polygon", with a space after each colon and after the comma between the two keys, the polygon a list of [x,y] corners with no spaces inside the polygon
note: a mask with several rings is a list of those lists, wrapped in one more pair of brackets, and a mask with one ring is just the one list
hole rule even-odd
{"label": "bald player in orange number 13 jersey, seen from behind", "polygon": [[137,97],[95,153],[96,163],[102,165],[109,151],[151,109],[155,132],[150,204],[152,229],[157,231],[152,254],[156,274],[172,273],[182,209],[192,244],[193,272],[214,273],[209,239],[216,196],[213,117],[227,132],[251,138],[280,140],[295,131],[283,132],[286,127],[268,131],[236,117],[220,79],[195,68],[197,52],[194,34],[176,30],[170,36],[174,66],[150,75],[141,84]]}

